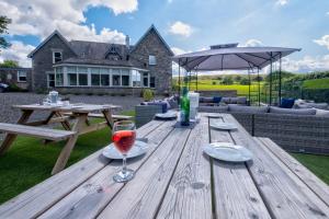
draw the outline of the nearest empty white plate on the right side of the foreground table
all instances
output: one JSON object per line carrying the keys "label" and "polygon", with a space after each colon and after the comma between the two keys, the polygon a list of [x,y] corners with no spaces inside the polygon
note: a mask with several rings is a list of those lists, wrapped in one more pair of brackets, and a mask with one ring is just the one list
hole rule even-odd
{"label": "nearest empty white plate on the right side of the foreground table", "polygon": [[252,159],[252,153],[247,148],[229,142],[208,143],[203,147],[203,151],[222,161],[245,162]]}

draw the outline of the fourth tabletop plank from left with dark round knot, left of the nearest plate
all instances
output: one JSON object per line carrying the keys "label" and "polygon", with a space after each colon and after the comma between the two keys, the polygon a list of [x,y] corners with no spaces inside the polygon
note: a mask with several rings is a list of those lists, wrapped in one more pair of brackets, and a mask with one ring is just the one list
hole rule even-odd
{"label": "fourth tabletop plank from left with dark round knot, left of the nearest plate", "polygon": [[157,218],[212,218],[211,164],[202,146],[209,142],[208,118],[191,131]]}

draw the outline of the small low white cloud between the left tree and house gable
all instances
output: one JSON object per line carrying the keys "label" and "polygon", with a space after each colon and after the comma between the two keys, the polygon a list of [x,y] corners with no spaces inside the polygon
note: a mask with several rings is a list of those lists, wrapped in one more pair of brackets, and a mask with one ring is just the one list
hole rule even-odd
{"label": "small low white cloud between the left tree and house gable", "polygon": [[31,45],[25,45],[22,42],[11,42],[11,46],[7,49],[0,51],[0,62],[3,60],[10,59],[19,62],[21,67],[31,67],[31,59],[27,58],[27,54],[30,54],[35,47]]}

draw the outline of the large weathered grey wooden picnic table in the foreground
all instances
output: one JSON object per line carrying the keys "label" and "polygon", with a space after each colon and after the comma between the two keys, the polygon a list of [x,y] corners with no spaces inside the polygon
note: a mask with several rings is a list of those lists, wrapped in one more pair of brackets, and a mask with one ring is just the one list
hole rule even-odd
{"label": "large weathered grey wooden picnic table in the foreground", "polygon": [[[328,218],[329,188],[270,140],[252,138],[231,115],[201,114],[194,128],[152,120],[137,130],[150,150],[128,161],[136,171],[126,184],[112,176],[121,161],[102,150],[0,206],[0,218]],[[238,130],[209,128],[236,123]],[[227,163],[202,146],[229,141],[253,160]]]}

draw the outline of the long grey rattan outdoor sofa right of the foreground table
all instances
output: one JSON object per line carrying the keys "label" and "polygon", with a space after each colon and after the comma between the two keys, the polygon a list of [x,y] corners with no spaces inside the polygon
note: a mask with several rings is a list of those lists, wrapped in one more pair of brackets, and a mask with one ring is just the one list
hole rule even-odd
{"label": "long grey rattan outdoor sofa right of the foreground table", "polygon": [[256,137],[268,137],[287,151],[329,154],[329,111],[276,106],[200,106],[229,113]]}

